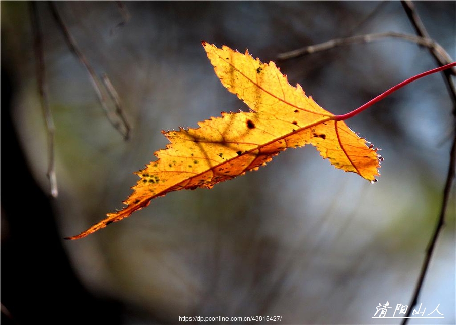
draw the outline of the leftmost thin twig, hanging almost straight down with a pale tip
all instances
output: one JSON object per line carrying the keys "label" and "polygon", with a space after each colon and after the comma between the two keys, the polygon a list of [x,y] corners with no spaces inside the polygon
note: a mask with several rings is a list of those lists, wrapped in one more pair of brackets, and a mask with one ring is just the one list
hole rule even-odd
{"label": "leftmost thin twig, hanging almost straight down with a pale tip", "polygon": [[55,164],[54,164],[54,133],[55,126],[52,119],[51,109],[49,108],[48,91],[45,74],[45,63],[43,54],[43,43],[42,33],[40,29],[40,21],[38,18],[38,10],[36,8],[36,2],[31,2],[31,21],[33,29],[35,57],[36,57],[36,78],[38,83],[38,94],[40,97],[41,109],[43,110],[43,116],[46,123],[46,132],[48,138],[48,172],[47,176],[51,188],[51,196],[58,196],[57,188],[57,177],[55,175]]}

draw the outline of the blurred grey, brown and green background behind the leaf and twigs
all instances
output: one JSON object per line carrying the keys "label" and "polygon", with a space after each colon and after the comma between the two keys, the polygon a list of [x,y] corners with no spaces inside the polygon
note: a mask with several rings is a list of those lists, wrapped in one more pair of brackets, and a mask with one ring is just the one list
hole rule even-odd
{"label": "blurred grey, brown and green background behind the leaf and twigs", "polygon": [[[401,4],[122,4],[131,15],[122,26],[116,2],[54,5],[95,72],[106,73],[119,93],[132,127],[128,141],[106,118],[49,3],[36,4],[56,129],[59,196],[51,199],[30,4],[1,2],[2,321],[282,316],[283,324],[399,323],[371,317],[378,304],[393,307],[387,316],[396,304],[409,304],[440,211],[454,118],[439,74],[347,121],[382,149],[375,184],[336,170],[306,146],[211,190],[155,199],[86,238],[62,238],[123,207],[137,181],[133,172],[168,143],[161,130],[246,110],[221,85],[201,40],[275,61],[292,85],[342,114],[436,67],[428,50],[385,39],[285,61],[277,56],[342,36],[414,34]],[[415,6],[454,59],[456,3]],[[410,324],[456,322],[455,210],[453,185],[418,301],[425,316],[440,304],[445,318]]]}

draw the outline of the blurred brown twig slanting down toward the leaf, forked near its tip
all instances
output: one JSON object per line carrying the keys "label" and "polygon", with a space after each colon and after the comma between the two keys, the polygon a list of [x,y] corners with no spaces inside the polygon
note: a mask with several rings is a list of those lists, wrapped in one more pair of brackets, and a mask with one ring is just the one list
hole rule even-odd
{"label": "blurred brown twig slanting down toward the leaf, forked near its tip", "polygon": [[100,103],[103,106],[106,116],[108,117],[111,124],[124,136],[124,139],[127,140],[130,136],[130,126],[127,123],[127,120],[126,120],[124,114],[122,114],[122,111],[121,111],[121,114],[119,114],[118,110],[112,111],[112,109],[109,108],[109,106],[107,104],[106,96],[101,89],[102,83],[101,83],[100,79],[98,78],[97,74],[95,73],[95,70],[89,64],[89,61],[86,59],[84,54],[79,50],[76,41],[69,33],[68,28],[66,27],[65,23],[63,22],[62,17],[58,13],[54,2],[51,1],[50,6],[51,6],[51,11],[54,16],[54,19],[57,22],[57,24],[59,25],[60,29],[62,30],[62,32],[65,36],[66,44],[70,48],[71,52],[73,52],[74,55],[76,55],[79,58],[79,60],[83,63],[83,65],[86,67],[87,71],[89,72],[90,80],[95,89],[95,92],[98,95],[98,99],[100,100]]}

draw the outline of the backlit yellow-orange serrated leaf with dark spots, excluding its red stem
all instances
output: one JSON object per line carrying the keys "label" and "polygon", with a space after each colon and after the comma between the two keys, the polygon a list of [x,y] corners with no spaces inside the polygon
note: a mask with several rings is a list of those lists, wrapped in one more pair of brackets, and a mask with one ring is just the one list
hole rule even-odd
{"label": "backlit yellow-orange serrated leaf with dark spots, excluding its red stem", "polygon": [[314,145],[323,158],[346,172],[375,181],[377,149],[368,147],[336,115],[306,97],[301,86],[288,84],[274,62],[261,63],[223,46],[203,42],[223,86],[236,94],[250,112],[225,113],[199,122],[197,129],[162,133],[170,144],[155,153],[157,160],[137,172],[134,192],[123,210],[67,239],[87,236],[147,206],[151,199],[181,189],[211,188],[215,184],[257,170],[286,148]]}

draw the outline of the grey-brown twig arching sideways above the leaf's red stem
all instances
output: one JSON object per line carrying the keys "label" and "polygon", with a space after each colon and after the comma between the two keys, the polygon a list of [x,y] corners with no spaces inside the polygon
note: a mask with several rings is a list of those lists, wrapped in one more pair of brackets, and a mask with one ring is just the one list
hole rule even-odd
{"label": "grey-brown twig arching sideways above the leaf's red stem", "polygon": [[[375,40],[380,40],[382,38],[400,38],[404,40],[408,40],[409,42],[413,42],[416,44],[420,44],[422,46],[428,47],[430,49],[435,49],[435,52],[438,53],[441,57],[442,65],[451,63],[451,57],[449,54],[434,40],[430,38],[410,35],[410,34],[403,34],[403,33],[396,33],[396,32],[386,32],[386,33],[376,33],[376,34],[366,34],[366,35],[357,35],[345,38],[335,38],[328,40],[327,42],[314,44],[311,46],[307,46],[301,49],[293,50],[290,52],[281,53],[277,56],[279,60],[287,60],[296,57],[300,57],[306,54],[311,54],[319,51],[329,50],[338,46],[345,46],[354,43],[370,43],[374,42]],[[456,74],[456,70],[452,69],[453,74]]]}

